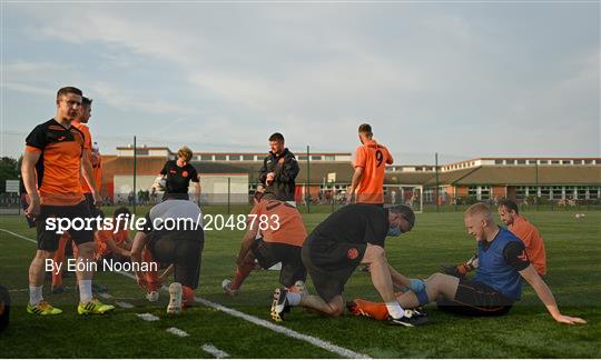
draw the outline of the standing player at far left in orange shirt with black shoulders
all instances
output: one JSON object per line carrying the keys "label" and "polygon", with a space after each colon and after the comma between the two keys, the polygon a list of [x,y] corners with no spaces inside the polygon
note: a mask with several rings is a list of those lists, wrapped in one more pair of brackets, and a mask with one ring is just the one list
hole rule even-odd
{"label": "standing player at far left in orange shirt with black shoulders", "polygon": [[[30,198],[26,216],[36,219],[38,251],[29,268],[29,303],[27,311],[35,314],[58,314],[62,310],[43,301],[42,286],[46,260],[57,251],[60,234],[46,227],[46,219],[90,218],[90,209],[79,183],[81,158],[87,157],[83,133],[71,126],[79,114],[81,90],[62,88],[57,93],[57,114],[37,126],[26,140],[21,174]],[[92,188],[96,188],[91,178]],[[95,194],[97,194],[95,192]],[[95,200],[98,200],[95,197]],[[93,232],[70,229],[69,234],[79,248],[77,279],[80,302],[78,313],[105,313],[115,309],[92,298]],[[85,266],[85,267],[83,267]]]}

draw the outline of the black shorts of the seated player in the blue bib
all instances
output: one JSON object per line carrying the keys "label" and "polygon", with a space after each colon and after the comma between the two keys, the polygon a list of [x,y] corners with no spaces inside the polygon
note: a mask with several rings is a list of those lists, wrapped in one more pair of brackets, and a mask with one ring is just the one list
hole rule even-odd
{"label": "black shorts of the seated player in the blue bib", "polygon": [[473,316],[502,316],[509,312],[515,301],[482,282],[460,279],[457,292],[453,300],[439,300],[443,311]]}

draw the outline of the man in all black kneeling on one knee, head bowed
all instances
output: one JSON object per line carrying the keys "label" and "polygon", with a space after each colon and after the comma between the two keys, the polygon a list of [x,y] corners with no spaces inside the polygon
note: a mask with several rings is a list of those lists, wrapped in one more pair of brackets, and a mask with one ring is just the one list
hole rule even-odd
{"label": "man in all black kneeling on one knee, head bowed", "polygon": [[396,301],[393,284],[421,291],[421,280],[407,279],[394,270],[386,260],[386,236],[411,231],[415,214],[411,208],[396,206],[349,204],[332,213],[308,236],[303,244],[303,263],[308,270],[317,296],[293,293],[276,289],[272,302],[272,318],[282,321],[289,307],[300,306],[324,314],[344,313],[344,286],[359,263],[371,268],[372,283],[388,309],[392,324],[421,323],[415,312],[404,311]]}

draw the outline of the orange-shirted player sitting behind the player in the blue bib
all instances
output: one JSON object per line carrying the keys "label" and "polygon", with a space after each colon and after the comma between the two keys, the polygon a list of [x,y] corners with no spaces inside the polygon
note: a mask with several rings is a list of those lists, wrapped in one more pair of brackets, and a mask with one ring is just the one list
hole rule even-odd
{"label": "orange-shirted player sitting behind the player in the blue bib", "polygon": [[[541,276],[546,274],[546,253],[544,251],[544,242],[539,230],[530,223],[524,217],[520,216],[518,204],[509,199],[499,202],[499,218],[508,227],[508,230],[520,238],[525,246],[525,251],[530,263],[534,270]],[[477,268],[477,256],[472,257],[464,263],[456,267],[442,266],[444,273],[454,277],[465,276],[467,272]]]}

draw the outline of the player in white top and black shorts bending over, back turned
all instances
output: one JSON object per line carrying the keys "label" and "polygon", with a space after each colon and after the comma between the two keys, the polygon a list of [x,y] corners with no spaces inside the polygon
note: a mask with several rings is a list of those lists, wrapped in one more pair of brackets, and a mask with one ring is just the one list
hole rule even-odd
{"label": "player in white top and black shorts bending over, back turned", "polygon": [[[193,223],[187,219],[191,219]],[[131,262],[135,264],[141,262],[145,246],[155,261],[174,264],[175,282],[169,286],[168,313],[179,313],[183,306],[194,303],[194,290],[198,287],[200,258],[205,246],[205,233],[201,223],[197,224],[196,219],[203,219],[198,206],[166,194],[162,202],[150,209],[146,216],[146,229],[136,233],[131,246]],[[175,221],[180,228],[164,229],[166,220]],[[136,278],[138,284],[146,289],[146,274],[136,271]]]}

